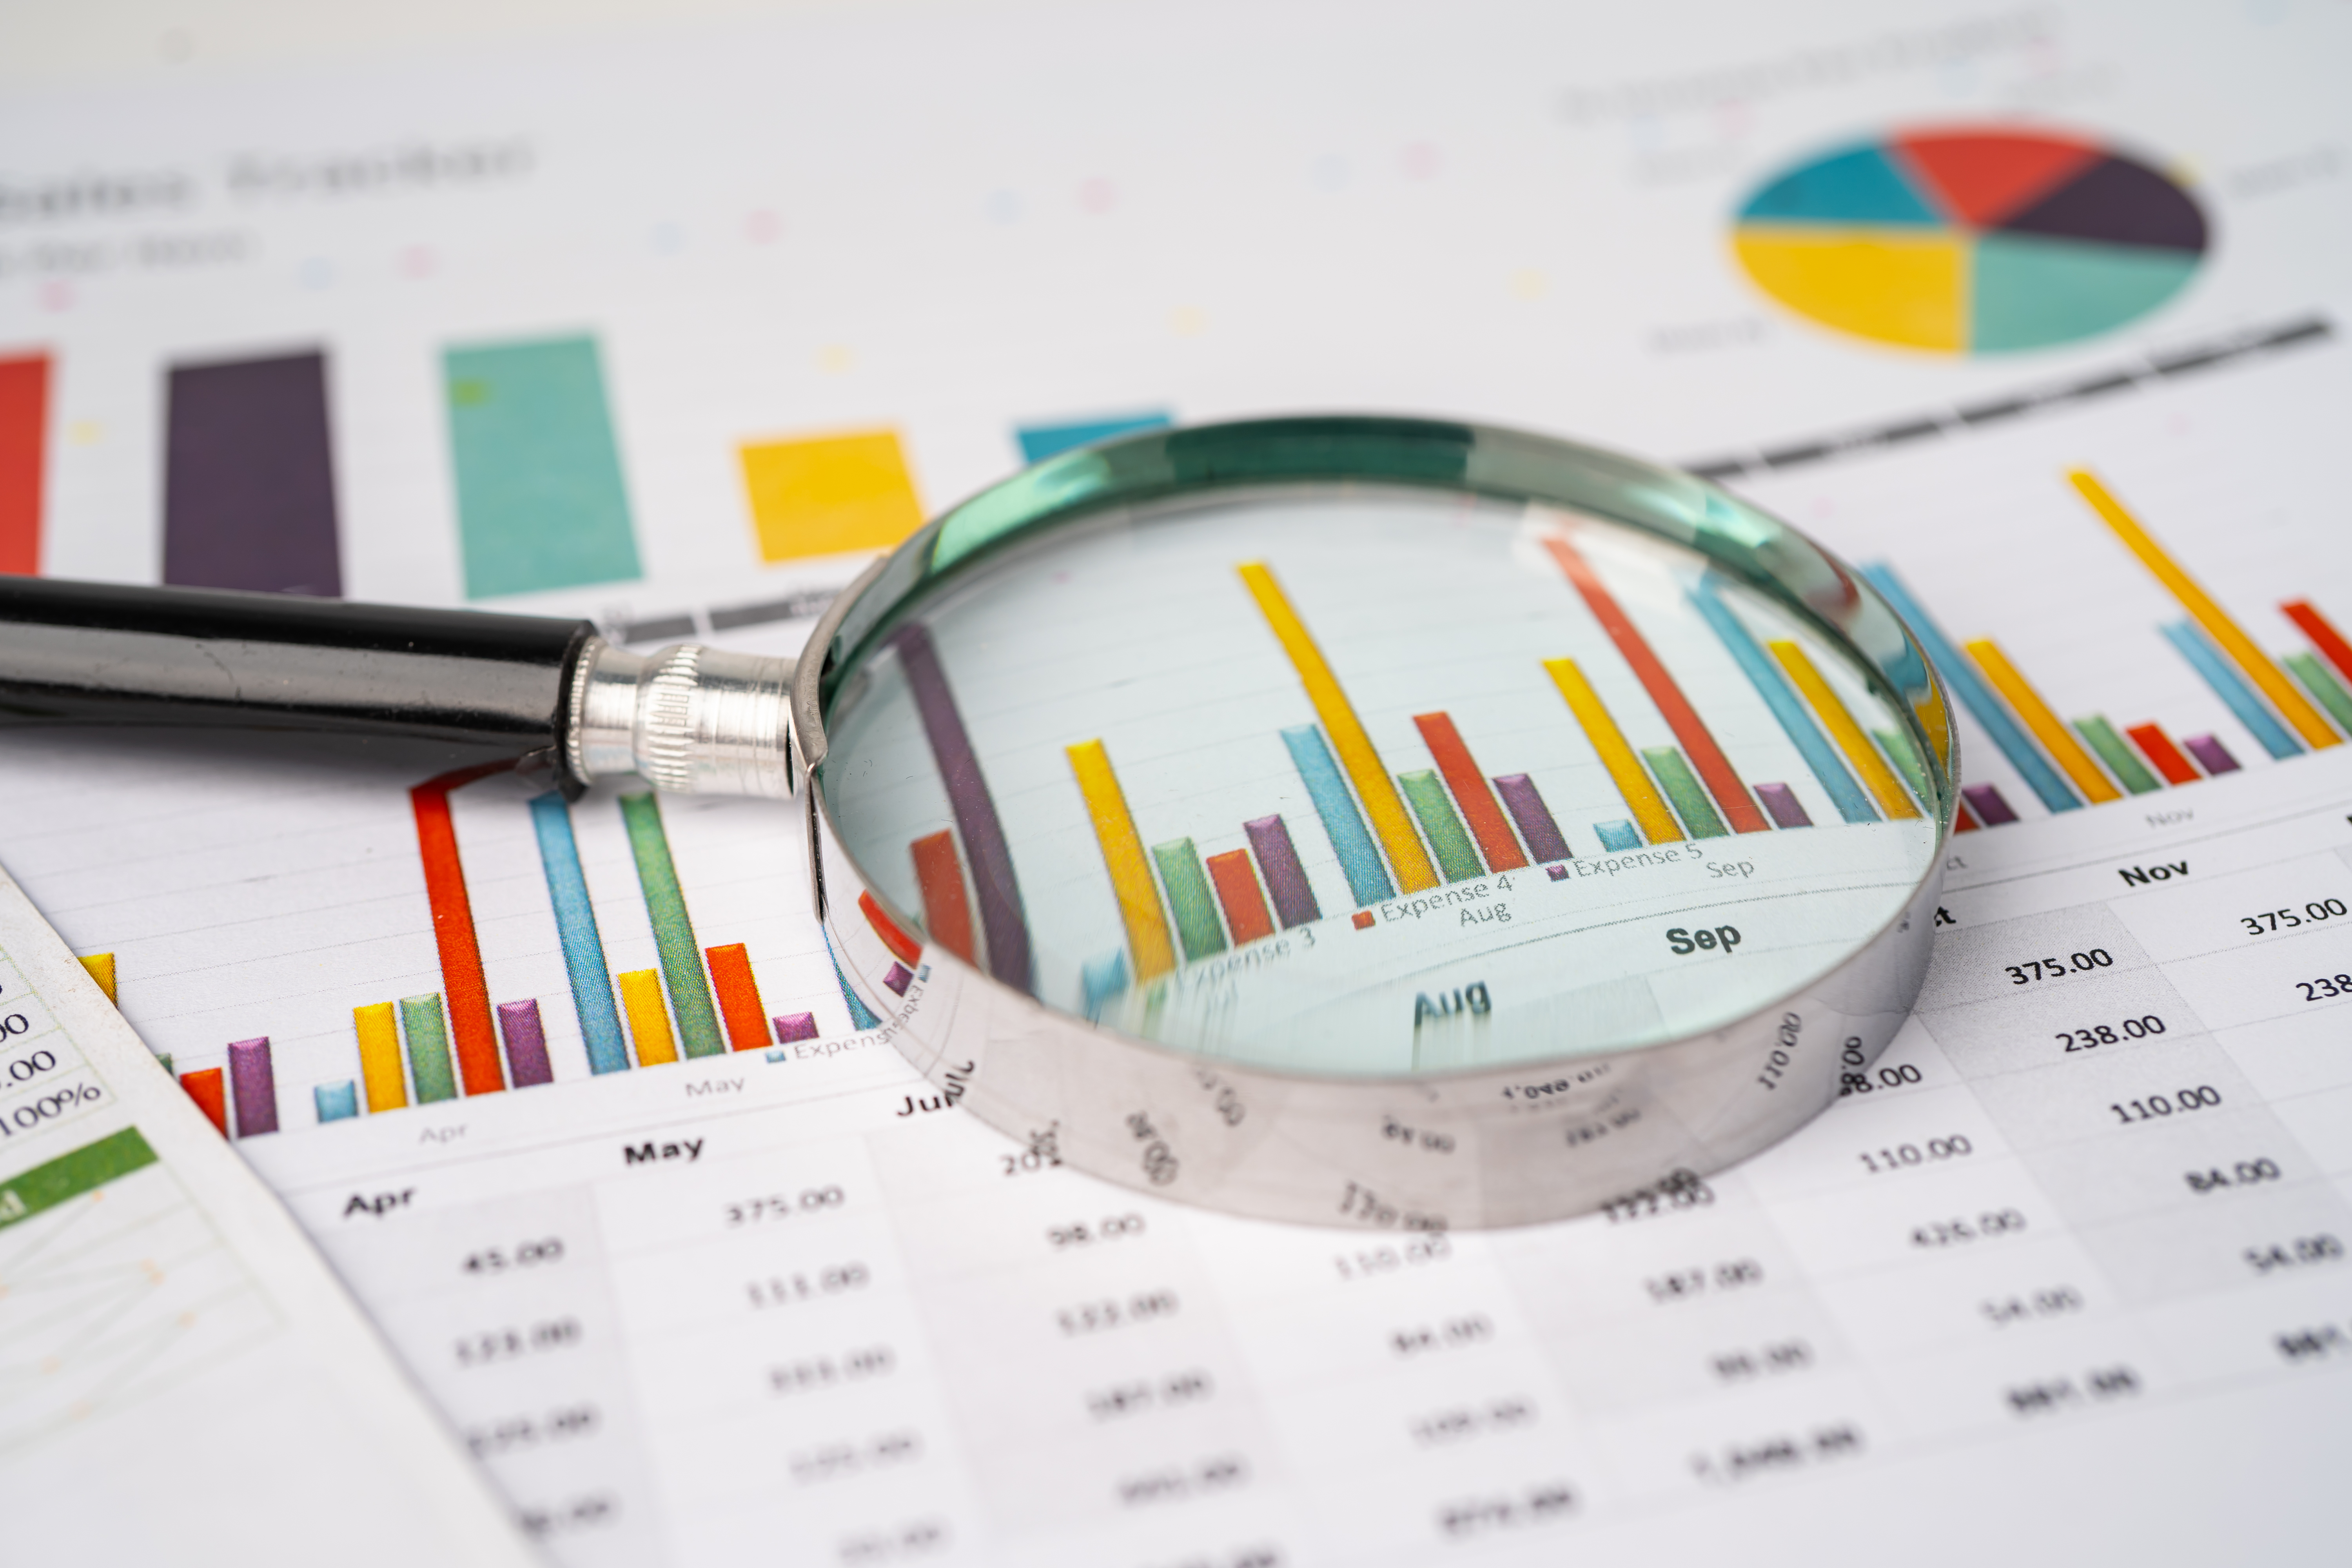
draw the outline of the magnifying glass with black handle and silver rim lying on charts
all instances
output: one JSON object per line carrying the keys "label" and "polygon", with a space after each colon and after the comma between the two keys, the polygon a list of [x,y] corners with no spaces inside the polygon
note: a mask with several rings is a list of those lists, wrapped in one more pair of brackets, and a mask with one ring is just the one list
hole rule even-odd
{"label": "magnifying glass with black handle and silver rim lying on charts", "polygon": [[[1040,1161],[1258,1218],[1708,1201],[1907,1016],[1952,827],[1943,691],[1856,571],[1689,475],[1463,423],[1049,458],[866,571],[797,668],[306,614],[442,628],[339,649],[374,677],[539,628],[501,733],[569,788],[807,780],[863,1025]],[[0,658],[0,698],[136,696],[56,663]],[[369,717],[329,708],[282,717]]]}

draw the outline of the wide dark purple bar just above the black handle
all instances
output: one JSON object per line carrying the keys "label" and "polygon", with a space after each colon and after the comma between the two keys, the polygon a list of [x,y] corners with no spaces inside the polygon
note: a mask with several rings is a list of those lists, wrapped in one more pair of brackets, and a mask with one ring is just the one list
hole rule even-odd
{"label": "wide dark purple bar just above the black handle", "polygon": [[327,355],[176,364],[165,404],[162,581],[341,597]]}

